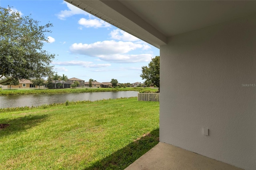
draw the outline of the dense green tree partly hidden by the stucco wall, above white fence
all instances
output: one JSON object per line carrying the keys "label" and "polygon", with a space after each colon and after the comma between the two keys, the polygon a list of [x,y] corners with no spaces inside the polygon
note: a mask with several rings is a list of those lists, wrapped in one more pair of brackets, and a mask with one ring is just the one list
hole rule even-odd
{"label": "dense green tree partly hidden by the stucco wall, above white fence", "polygon": [[145,86],[154,85],[158,87],[160,92],[160,56],[156,56],[151,60],[148,66],[142,66],[140,77],[145,80]]}

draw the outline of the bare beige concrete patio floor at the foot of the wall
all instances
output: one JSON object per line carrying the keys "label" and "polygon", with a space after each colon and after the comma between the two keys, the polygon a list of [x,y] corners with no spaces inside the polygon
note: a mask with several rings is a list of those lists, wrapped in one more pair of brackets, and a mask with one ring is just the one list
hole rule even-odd
{"label": "bare beige concrete patio floor at the foot of the wall", "polygon": [[174,147],[166,143],[158,143],[151,150],[125,170],[242,170],[230,164],[220,162]]}

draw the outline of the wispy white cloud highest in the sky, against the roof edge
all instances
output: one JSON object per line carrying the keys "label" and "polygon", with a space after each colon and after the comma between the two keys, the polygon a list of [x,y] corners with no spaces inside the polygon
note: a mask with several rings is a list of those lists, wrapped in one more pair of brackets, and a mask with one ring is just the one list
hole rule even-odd
{"label": "wispy white cloud highest in the sky, against the roof edge", "polygon": [[65,18],[76,15],[76,14],[83,14],[83,15],[88,15],[87,12],[85,12],[84,10],[81,10],[80,8],[77,8],[76,6],[63,1],[62,4],[66,4],[68,7],[68,10],[62,10],[60,11],[58,14],[56,14],[56,16],[60,19],[60,20],[65,20]]}

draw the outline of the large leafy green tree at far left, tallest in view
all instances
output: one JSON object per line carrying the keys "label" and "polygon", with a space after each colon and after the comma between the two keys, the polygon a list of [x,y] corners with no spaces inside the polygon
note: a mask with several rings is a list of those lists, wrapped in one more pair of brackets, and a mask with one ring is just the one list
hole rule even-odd
{"label": "large leafy green tree at far left, tallest in view", "polygon": [[47,77],[54,54],[43,50],[51,23],[40,26],[30,16],[22,17],[10,7],[0,7],[0,78],[12,80]]}

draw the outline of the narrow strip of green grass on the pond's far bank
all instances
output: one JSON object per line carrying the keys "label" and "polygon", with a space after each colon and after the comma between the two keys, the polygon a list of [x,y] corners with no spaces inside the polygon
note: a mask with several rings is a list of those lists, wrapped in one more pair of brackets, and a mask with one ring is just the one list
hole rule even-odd
{"label": "narrow strip of green grass on the pond's far bank", "polygon": [[36,90],[0,90],[0,96],[24,95],[24,94],[58,94],[58,93],[81,93],[81,92],[112,92],[112,91],[138,91],[156,92],[152,88],[66,88],[66,89],[36,89]]}

